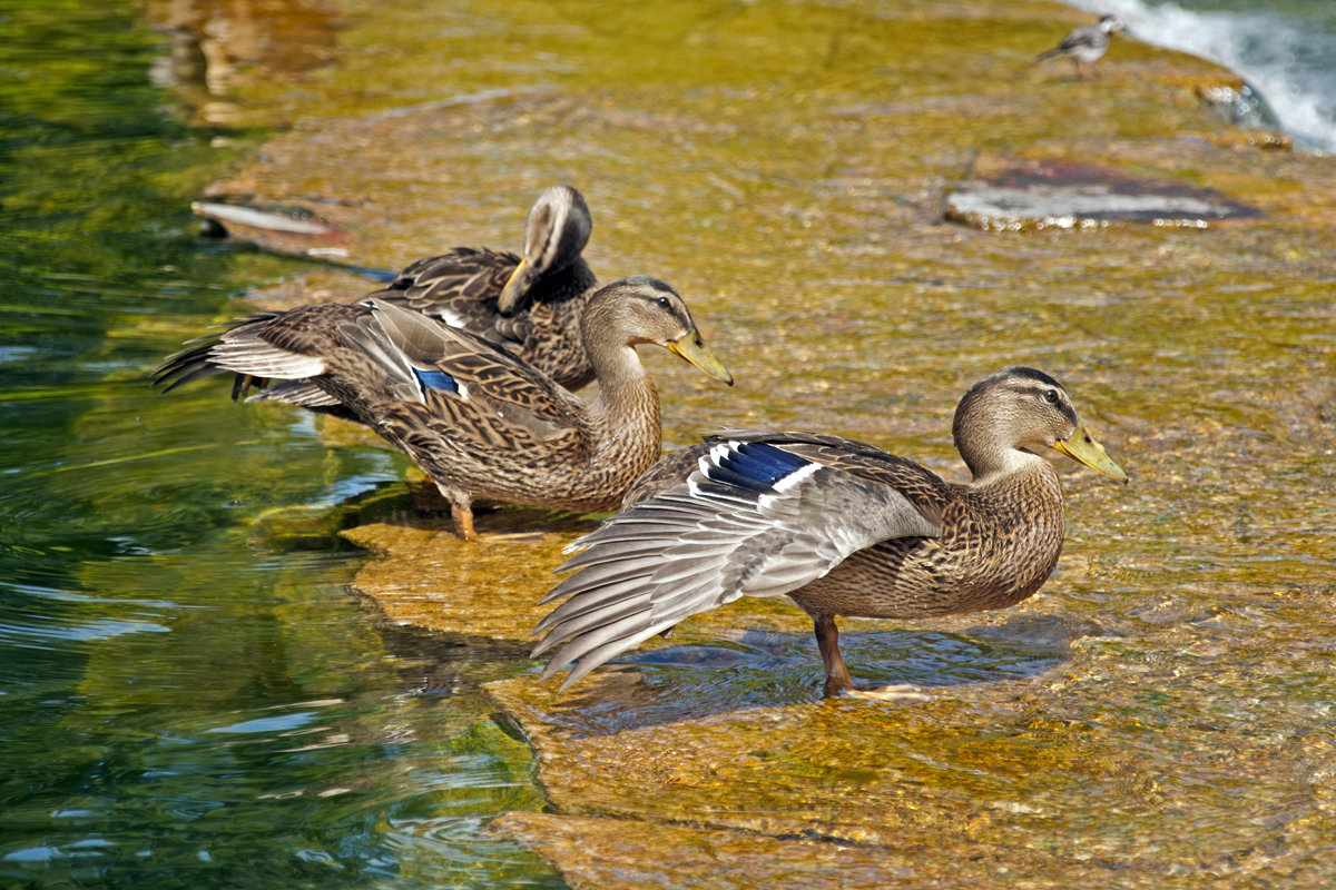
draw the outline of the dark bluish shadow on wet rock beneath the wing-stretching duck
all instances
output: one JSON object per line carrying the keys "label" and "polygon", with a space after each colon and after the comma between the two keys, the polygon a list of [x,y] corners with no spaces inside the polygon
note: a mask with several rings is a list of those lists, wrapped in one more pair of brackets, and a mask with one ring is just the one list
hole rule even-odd
{"label": "dark bluish shadow on wet rock beneath the wing-stretching duck", "polygon": [[[962,632],[842,632],[840,651],[859,690],[912,685],[933,697],[1037,678],[1066,659],[1073,640],[1102,634],[1085,622],[1026,616]],[[823,698],[823,683],[822,658],[811,634],[747,630],[727,644],[624,655],[592,674],[544,719],[576,738],[612,735],[733,711],[815,703]]]}

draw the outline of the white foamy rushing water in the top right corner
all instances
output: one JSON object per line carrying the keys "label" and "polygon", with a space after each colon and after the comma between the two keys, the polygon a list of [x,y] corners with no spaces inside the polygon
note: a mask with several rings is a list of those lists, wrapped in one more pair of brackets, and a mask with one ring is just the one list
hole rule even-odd
{"label": "white foamy rushing water in the top right corner", "polygon": [[1225,65],[1301,148],[1336,152],[1336,4],[1329,0],[1074,0],[1138,40]]}

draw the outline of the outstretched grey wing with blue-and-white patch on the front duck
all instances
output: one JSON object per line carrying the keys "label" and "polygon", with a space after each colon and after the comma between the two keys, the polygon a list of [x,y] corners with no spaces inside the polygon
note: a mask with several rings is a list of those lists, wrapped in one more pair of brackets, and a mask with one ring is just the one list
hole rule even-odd
{"label": "outstretched grey wing with blue-and-white patch on the front duck", "polygon": [[[660,479],[656,494],[573,544],[584,552],[557,571],[576,574],[542,602],[568,599],[534,630],[546,631],[534,656],[561,646],[544,678],[578,660],[565,689],[689,615],[798,590],[879,540],[941,534],[937,510],[894,483],[906,476],[912,488],[930,474],[868,446],[740,434],[688,454],[696,462],[685,478],[667,487]],[[839,466],[848,458],[863,470],[880,459],[886,479]]]}

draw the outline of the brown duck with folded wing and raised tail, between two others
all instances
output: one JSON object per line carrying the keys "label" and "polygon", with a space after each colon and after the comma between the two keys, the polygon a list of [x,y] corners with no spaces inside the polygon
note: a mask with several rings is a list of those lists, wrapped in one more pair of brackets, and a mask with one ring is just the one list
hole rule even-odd
{"label": "brown duck with folded wing and raised tail, between two others", "polygon": [[599,290],[581,330],[599,380],[592,402],[468,331],[377,298],[239,319],[170,356],[155,383],[171,390],[231,371],[234,399],[275,378],[283,382],[248,400],[338,406],[413,458],[450,502],[458,535],[473,539],[474,498],[616,510],[660,455],[659,392],[637,344],[732,384],[681,296],[659,279]]}

